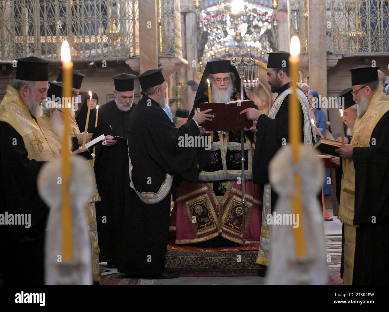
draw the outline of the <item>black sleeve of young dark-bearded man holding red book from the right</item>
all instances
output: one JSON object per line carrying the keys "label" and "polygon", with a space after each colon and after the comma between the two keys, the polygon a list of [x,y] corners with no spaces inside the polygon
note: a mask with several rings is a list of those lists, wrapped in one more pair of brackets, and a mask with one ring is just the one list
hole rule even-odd
{"label": "black sleeve of young dark-bearded man holding red book from the right", "polygon": [[[257,140],[252,163],[253,183],[266,184],[269,182],[269,163],[282,146],[283,139],[285,139],[285,142],[289,142],[289,99],[290,95],[287,95],[282,101],[275,119],[265,114],[261,114],[258,118]],[[300,122],[301,141],[303,142],[304,113],[301,106]]]}

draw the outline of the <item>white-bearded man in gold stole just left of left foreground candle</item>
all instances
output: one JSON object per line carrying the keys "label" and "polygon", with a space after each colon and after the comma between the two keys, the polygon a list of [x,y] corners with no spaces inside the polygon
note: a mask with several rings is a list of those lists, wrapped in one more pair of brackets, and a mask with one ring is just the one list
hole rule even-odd
{"label": "white-bearded man in gold stole just left of left foreground candle", "polygon": [[[44,131],[47,143],[53,152],[54,157],[59,157],[62,154],[62,140],[64,135],[63,124],[63,110],[62,108],[62,82],[50,82],[49,89],[47,90],[47,99],[42,104],[43,115],[37,118],[37,122],[40,128]],[[53,103],[52,99],[54,100]],[[58,101],[58,102],[56,102]],[[59,105],[58,105],[59,104]],[[60,106],[58,108],[58,106]],[[70,147],[72,146],[72,138],[70,140]],[[72,149],[72,148],[70,148]],[[70,152],[70,151],[69,151]],[[92,161],[88,161],[89,165],[92,165]],[[100,281],[100,261],[99,261],[99,247],[97,238],[97,224],[96,224],[96,208],[95,202],[100,200],[100,196],[97,192],[96,181],[93,188],[92,196],[89,203],[85,206],[85,212],[88,220],[89,235],[91,238],[91,258],[93,263],[93,281],[98,284]]]}

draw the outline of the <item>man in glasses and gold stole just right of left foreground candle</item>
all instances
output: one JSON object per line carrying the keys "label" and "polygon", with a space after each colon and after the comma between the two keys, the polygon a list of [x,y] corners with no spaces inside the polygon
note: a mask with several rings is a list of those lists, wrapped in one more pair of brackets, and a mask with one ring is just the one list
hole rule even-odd
{"label": "man in glasses and gold stole just right of left foreground candle", "polygon": [[[53,82],[62,82],[62,75],[63,75],[63,68],[60,67],[60,73],[58,74],[57,80],[54,80]],[[77,96],[81,89],[82,79],[84,79],[85,75],[80,73],[78,70],[75,70],[73,68],[73,98],[74,100],[77,100]],[[72,115],[70,116],[70,129],[71,129],[71,136],[72,136],[72,151],[75,151],[79,148],[79,146],[82,145],[82,140],[84,138],[84,132],[80,132],[79,126],[77,124],[77,121],[75,120],[75,111],[72,111]],[[81,128],[81,131],[84,131],[84,129]],[[88,143],[92,138],[93,133],[88,133],[86,135],[86,143]]]}

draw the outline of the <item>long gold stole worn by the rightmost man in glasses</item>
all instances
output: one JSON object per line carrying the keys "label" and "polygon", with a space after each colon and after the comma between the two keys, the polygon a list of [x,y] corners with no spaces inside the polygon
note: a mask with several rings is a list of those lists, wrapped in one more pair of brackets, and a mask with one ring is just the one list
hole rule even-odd
{"label": "long gold stole worn by the rightmost man in glasses", "polygon": [[[385,93],[376,90],[371,96],[368,108],[362,117],[357,117],[351,145],[369,147],[371,133],[381,117],[389,110],[389,101]],[[354,221],[355,168],[352,159],[346,159],[342,178],[338,219],[344,223],[344,272],[343,285],[352,285],[354,255],[356,247],[356,226]]]}

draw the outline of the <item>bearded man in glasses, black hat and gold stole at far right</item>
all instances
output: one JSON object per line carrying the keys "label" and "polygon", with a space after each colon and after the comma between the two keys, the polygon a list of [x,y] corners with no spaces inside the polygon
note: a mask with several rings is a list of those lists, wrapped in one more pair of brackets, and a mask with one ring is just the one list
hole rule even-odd
{"label": "bearded man in glasses, black hat and gold stole at far right", "polygon": [[346,159],[338,218],[344,224],[344,285],[389,284],[389,101],[379,67],[350,70],[357,119]]}

